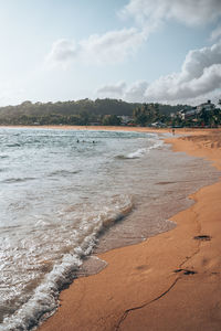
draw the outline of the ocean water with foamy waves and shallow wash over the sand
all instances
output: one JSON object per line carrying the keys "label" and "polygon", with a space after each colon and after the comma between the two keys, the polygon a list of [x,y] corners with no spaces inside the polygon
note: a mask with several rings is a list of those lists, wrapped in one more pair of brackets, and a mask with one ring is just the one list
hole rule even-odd
{"label": "ocean water with foamy waves and shallow wash over the sand", "polygon": [[0,128],[0,330],[35,328],[63,287],[96,271],[86,257],[171,229],[188,194],[218,180],[162,138]]}

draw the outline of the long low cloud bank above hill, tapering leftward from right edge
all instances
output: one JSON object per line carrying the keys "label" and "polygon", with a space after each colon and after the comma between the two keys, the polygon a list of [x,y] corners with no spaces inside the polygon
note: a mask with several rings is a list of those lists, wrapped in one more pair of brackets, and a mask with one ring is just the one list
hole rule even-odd
{"label": "long low cloud bank above hill, tapering leftward from right edge", "polygon": [[190,51],[180,73],[161,76],[149,85],[143,81],[130,86],[126,86],[125,83],[124,85],[108,85],[108,88],[106,86],[99,90],[103,90],[106,96],[112,96],[109,92],[116,89],[117,97],[128,102],[173,104],[204,98],[219,88],[221,88],[221,42],[211,47]]}

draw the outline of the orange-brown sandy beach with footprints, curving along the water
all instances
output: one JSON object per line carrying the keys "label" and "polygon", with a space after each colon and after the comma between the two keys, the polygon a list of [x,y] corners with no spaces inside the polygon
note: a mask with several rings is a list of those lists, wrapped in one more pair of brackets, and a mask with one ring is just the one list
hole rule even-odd
{"label": "orange-brown sandy beach with footprints, curving along the water", "polygon": [[[186,136],[166,140],[175,151],[221,170],[221,130],[177,132]],[[107,267],[63,290],[56,313],[39,330],[220,330],[220,197],[221,182],[202,188],[171,218],[175,229],[98,255]]]}

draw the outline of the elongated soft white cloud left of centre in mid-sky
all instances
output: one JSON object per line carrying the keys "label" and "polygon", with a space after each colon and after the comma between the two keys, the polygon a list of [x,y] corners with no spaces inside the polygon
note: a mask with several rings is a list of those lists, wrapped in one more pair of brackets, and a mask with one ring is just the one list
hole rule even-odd
{"label": "elongated soft white cloud left of centre in mid-sky", "polygon": [[46,60],[48,63],[64,65],[74,61],[88,64],[115,64],[133,55],[146,38],[146,33],[131,28],[110,31],[103,35],[92,34],[78,43],[59,40],[53,43]]}

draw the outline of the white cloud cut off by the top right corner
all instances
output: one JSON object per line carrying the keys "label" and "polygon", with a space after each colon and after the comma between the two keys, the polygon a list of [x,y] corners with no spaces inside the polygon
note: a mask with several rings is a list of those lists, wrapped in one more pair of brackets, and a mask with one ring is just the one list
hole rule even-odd
{"label": "white cloud cut off by the top right corner", "polygon": [[149,24],[175,19],[189,25],[212,22],[221,17],[220,0],[130,0],[122,10],[137,23]]}

